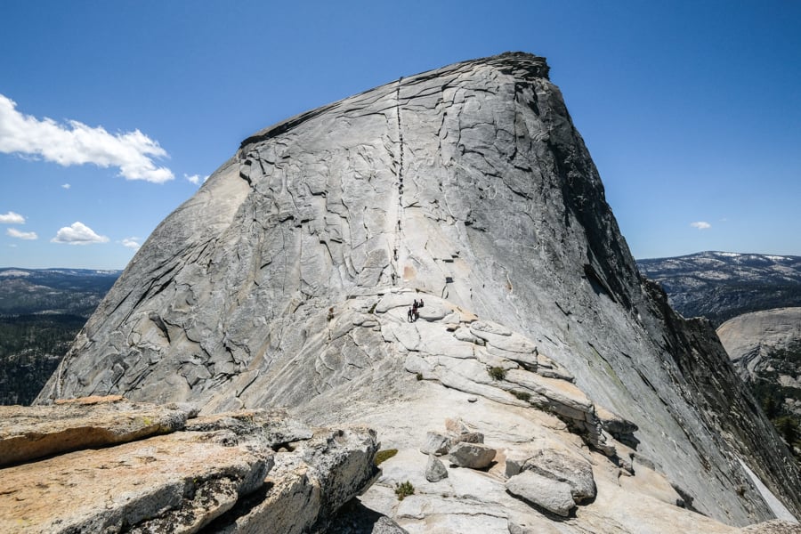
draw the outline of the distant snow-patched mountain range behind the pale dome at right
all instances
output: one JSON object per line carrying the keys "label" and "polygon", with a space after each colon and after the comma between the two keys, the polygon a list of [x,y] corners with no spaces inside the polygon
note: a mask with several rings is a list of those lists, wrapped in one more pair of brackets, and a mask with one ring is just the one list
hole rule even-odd
{"label": "distant snow-patched mountain range behind the pale dome at right", "polygon": [[637,260],[684,317],[717,327],[743,313],[801,306],[801,256],[700,252]]}

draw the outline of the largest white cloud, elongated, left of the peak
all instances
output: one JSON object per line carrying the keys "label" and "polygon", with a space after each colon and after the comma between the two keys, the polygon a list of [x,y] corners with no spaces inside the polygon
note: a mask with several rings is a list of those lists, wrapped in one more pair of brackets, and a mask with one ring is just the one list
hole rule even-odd
{"label": "largest white cloud, elongated, left of the peak", "polygon": [[0,94],[0,152],[53,161],[61,166],[93,163],[119,168],[128,180],[166,182],[174,178],[152,158],[166,158],[166,150],[139,130],[109,134],[102,126],[92,128],[77,120],[66,125],[52,118],[23,115],[16,102]]}

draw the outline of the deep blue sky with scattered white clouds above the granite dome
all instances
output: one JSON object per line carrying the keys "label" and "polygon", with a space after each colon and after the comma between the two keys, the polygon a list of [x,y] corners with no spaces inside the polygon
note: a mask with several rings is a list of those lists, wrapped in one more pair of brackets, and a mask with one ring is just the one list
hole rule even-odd
{"label": "deep blue sky with scattered white clouds above the granite dome", "polygon": [[0,266],[122,269],[248,135],[509,50],[548,59],[635,257],[801,255],[797,0],[9,0],[0,13]]}

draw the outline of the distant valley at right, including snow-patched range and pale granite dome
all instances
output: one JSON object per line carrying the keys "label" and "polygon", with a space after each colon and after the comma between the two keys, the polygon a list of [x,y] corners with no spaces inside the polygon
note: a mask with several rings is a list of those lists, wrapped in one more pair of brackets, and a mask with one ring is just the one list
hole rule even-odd
{"label": "distant valley at right, including snow-patched range and pale granite dome", "polygon": [[712,321],[734,368],[801,457],[801,257],[701,252],[637,267],[677,312]]}

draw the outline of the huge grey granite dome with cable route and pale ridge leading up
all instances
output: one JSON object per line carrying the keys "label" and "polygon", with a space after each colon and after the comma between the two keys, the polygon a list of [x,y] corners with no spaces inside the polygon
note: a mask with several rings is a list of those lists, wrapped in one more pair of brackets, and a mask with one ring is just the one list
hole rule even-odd
{"label": "huge grey granite dome with cable route and pale ridge leading up", "polygon": [[[361,504],[409,532],[736,531],[776,514],[740,460],[801,513],[801,475],[712,328],[640,277],[547,75],[529,54],[465,61],[248,138],[154,231],[38,402],[371,425],[399,452]],[[494,464],[427,481],[420,448],[453,446],[426,440],[446,419]],[[594,500],[531,472],[581,501],[570,522],[506,491],[506,457],[525,474],[541,449],[592,465]]]}

